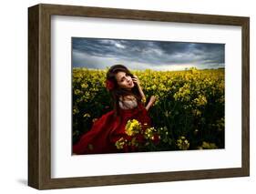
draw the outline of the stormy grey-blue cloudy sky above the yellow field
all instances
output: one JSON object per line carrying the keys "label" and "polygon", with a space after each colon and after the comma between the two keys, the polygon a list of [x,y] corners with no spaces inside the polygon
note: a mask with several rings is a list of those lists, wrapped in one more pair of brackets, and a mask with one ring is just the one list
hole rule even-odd
{"label": "stormy grey-blue cloudy sky above the yellow field", "polygon": [[224,67],[224,44],[72,37],[72,66],[184,70]]}

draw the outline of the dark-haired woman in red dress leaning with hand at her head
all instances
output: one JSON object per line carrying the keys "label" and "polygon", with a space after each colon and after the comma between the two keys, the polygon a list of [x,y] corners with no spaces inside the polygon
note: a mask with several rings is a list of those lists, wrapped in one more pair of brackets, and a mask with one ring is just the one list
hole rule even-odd
{"label": "dark-haired woman in red dress leaning with hand at her head", "polygon": [[109,68],[106,87],[113,98],[114,108],[97,119],[93,127],[73,146],[74,154],[120,152],[115,143],[126,136],[128,120],[137,119],[147,126],[151,124],[148,109],[154,104],[156,97],[150,97],[148,105],[143,106],[146,97],[138,77],[132,75],[126,66],[116,65]]}

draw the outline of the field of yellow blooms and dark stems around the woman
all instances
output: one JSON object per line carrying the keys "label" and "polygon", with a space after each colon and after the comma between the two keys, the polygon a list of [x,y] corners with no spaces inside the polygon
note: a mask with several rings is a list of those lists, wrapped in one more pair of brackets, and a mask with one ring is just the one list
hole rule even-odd
{"label": "field of yellow blooms and dark stems around the woman", "polygon": [[[132,71],[147,98],[158,144],[147,151],[224,148],[225,70]],[[73,68],[73,143],[112,110],[106,70]],[[118,145],[119,146],[119,145]]]}

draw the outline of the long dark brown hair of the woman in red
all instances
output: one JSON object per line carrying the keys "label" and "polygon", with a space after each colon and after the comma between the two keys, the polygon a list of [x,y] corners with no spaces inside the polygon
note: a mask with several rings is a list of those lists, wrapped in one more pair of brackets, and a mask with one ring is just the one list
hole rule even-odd
{"label": "long dark brown hair of the woman in red", "polygon": [[120,108],[118,103],[119,97],[126,97],[126,96],[132,95],[137,98],[138,102],[141,101],[141,96],[139,94],[138,86],[136,84],[131,90],[118,87],[118,80],[116,78],[116,75],[118,74],[118,72],[125,72],[128,76],[134,78],[134,76],[132,75],[132,73],[130,73],[130,71],[126,66],[115,65],[115,66],[111,66],[108,69],[107,80],[114,84],[114,87],[111,90],[109,90],[109,92],[111,94],[111,97],[113,98],[113,106],[114,106],[116,116],[119,115],[119,108]]}

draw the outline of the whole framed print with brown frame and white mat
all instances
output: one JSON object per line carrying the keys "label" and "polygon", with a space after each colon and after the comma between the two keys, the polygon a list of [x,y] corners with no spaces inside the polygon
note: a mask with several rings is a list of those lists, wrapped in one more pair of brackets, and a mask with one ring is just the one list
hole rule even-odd
{"label": "whole framed print with brown frame and white mat", "polygon": [[28,185],[249,176],[249,27],[241,16],[29,7]]}

